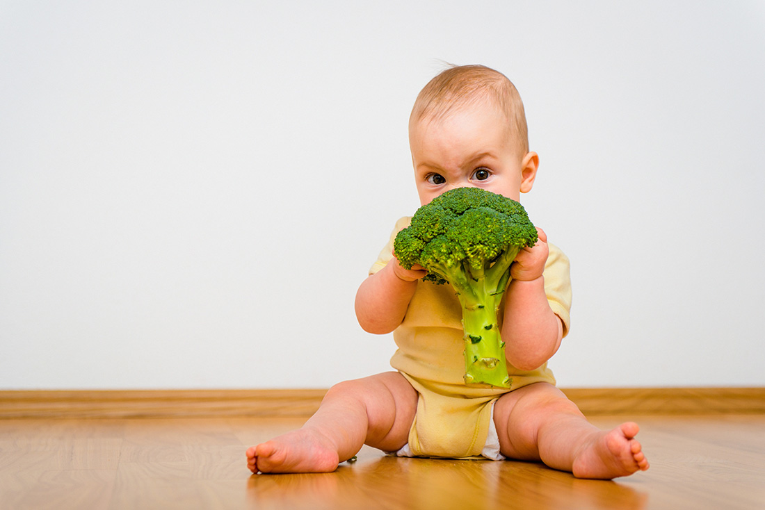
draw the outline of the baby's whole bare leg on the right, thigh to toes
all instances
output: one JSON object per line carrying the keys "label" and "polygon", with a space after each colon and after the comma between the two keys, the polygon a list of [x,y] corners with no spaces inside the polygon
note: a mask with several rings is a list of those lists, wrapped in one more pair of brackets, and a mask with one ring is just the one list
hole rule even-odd
{"label": "baby's whole bare leg on the right, thigh to toes", "polygon": [[635,439],[637,424],[600,430],[547,383],[503,395],[494,408],[494,421],[500,451],[509,458],[542,460],[578,478],[613,479],[648,469]]}

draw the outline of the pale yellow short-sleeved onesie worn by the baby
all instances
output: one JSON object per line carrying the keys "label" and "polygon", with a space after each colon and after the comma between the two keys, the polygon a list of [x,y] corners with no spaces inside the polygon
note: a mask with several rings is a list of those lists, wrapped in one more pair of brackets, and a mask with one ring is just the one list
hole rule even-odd
{"label": "pale yellow short-sleeved onesie worn by the baby", "polygon": [[[370,269],[374,274],[391,260],[393,239],[409,226],[399,219],[390,242]],[[545,265],[545,292],[552,311],[568,333],[571,280],[568,258],[550,245]],[[504,302],[500,305],[500,320]],[[417,413],[409,431],[409,451],[414,456],[477,458],[487,441],[493,401],[507,391],[534,382],[555,384],[547,363],[525,372],[508,366],[509,389],[490,385],[465,385],[462,310],[451,285],[418,281],[406,316],[393,333],[399,347],[391,359],[418,391]],[[501,326],[501,323],[500,323]]]}

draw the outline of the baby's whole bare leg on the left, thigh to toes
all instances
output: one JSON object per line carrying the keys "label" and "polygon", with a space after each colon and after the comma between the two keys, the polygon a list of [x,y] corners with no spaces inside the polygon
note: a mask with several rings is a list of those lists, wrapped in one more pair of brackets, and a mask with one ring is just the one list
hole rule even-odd
{"label": "baby's whole bare leg on the left, thigh to toes", "polygon": [[341,382],[298,430],[247,450],[252,473],[327,473],[364,443],[403,447],[417,409],[417,392],[398,372]]}

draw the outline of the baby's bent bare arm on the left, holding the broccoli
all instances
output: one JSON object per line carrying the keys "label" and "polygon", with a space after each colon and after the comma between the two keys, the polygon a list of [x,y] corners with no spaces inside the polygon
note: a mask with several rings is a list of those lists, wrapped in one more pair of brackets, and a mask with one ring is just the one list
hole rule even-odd
{"label": "baby's bent bare arm on the left, holding the broccoli", "polygon": [[404,320],[417,281],[427,271],[415,265],[405,269],[394,256],[386,266],[366,278],[356,292],[356,318],[363,330],[384,334]]}

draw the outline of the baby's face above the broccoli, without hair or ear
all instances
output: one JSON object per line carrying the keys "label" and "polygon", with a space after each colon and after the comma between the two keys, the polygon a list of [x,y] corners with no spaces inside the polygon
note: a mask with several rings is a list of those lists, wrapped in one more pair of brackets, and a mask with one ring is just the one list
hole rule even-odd
{"label": "baby's face above the broccoli, without hair or ear", "polygon": [[519,200],[526,154],[519,154],[505,116],[490,104],[412,123],[409,145],[421,205],[466,186]]}

